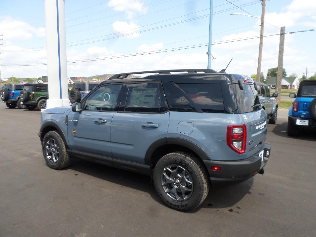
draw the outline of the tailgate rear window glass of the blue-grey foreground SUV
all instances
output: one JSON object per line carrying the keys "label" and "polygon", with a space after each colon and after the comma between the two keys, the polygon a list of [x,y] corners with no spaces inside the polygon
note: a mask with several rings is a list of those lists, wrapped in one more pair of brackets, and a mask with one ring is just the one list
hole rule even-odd
{"label": "tailgate rear window glass of the blue-grey foreground SUV", "polygon": [[260,110],[261,106],[255,106],[260,104],[258,92],[251,84],[243,84],[244,89],[241,90],[238,84],[236,87],[236,100],[239,113],[247,113],[256,110]]}

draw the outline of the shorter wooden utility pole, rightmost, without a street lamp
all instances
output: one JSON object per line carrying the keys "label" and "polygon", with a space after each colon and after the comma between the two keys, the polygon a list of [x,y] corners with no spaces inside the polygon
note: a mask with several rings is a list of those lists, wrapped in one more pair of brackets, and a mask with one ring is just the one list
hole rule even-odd
{"label": "shorter wooden utility pole, rightmost, without a street lamp", "polygon": [[279,45],[279,58],[277,62],[277,73],[276,73],[276,103],[280,105],[281,101],[281,89],[282,89],[282,76],[283,76],[283,52],[284,52],[284,33],[285,26],[281,27],[280,32],[280,45]]}

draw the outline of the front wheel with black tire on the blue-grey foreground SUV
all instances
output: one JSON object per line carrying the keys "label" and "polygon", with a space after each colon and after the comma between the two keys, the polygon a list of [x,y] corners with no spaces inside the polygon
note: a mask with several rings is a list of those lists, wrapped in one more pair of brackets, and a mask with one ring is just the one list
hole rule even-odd
{"label": "front wheel with black tire on the blue-grey foreground SUV", "polygon": [[[55,142],[57,146],[55,146],[54,155],[52,154],[52,149],[51,151],[49,151],[50,148],[54,147],[50,145],[52,144],[52,140]],[[46,147],[48,147],[48,149]],[[46,133],[46,135],[43,138],[42,150],[44,159],[48,167],[52,169],[63,169],[70,165],[71,157],[68,155],[63,138],[57,131],[50,131]],[[55,157],[55,159],[53,157]]]}

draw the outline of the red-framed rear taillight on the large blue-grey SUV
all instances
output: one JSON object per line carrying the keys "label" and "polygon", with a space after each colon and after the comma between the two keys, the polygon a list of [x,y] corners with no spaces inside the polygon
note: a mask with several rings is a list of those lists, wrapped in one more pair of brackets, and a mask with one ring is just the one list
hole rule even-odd
{"label": "red-framed rear taillight on the large blue-grey SUV", "polygon": [[227,126],[227,145],[239,154],[246,150],[246,125]]}

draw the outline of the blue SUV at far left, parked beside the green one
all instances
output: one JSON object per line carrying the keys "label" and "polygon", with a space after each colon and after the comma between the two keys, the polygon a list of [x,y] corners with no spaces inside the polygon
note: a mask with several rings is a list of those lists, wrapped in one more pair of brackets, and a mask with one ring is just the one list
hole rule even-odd
{"label": "blue SUV at far left, parked beside the green one", "polygon": [[0,91],[0,98],[5,102],[6,106],[14,109],[16,106],[25,109],[25,105],[20,100],[20,92],[23,90],[24,84],[5,84]]}

